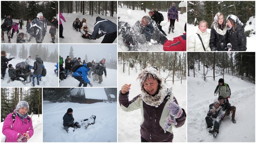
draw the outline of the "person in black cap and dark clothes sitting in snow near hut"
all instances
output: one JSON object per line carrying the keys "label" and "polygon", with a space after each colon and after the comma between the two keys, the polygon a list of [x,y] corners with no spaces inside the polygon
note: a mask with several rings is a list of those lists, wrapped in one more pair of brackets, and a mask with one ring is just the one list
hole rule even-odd
{"label": "person in black cap and dark clothes sitting in snow near hut", "polygon": [[[65,113],[65,115],[63,116],[63,126],[64,129],[68,132],[68,128],[72,127],[72,128],[80,128],[81,125],[79,125],[78,122],[74,123],[74,118],[73,118],[73,109],[72,108],[68,108],[67,113]],[[73,130],[74,131],[74,130]]]}

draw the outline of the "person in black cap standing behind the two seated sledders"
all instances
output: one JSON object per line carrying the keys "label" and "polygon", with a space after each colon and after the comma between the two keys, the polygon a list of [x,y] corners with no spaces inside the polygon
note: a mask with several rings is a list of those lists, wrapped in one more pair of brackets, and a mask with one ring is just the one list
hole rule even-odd
{"label": "person in black cap standing behind the two seated sledders", "polygon": [[231,96],[231,89],[229,88],[229,85],[227,83],[224,83],[223,78],[219,78],[219,84],[217,85],[216,89],[214,90],[214,96],[217,96],[217,93],[219,93],[219,96],[224,97],[227,101]]}

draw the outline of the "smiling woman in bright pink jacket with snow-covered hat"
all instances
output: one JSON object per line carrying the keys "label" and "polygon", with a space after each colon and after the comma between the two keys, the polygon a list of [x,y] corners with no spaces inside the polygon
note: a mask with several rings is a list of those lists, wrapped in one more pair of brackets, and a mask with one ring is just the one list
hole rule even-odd
{"label": "smiling woman in bright pink jacket with snow-covered hat", "polygon": [[32,120],[28,116],[29,105],[20,101],[13,113],[7,115],[3,123],[5,142],[27,142],[34,133]]}

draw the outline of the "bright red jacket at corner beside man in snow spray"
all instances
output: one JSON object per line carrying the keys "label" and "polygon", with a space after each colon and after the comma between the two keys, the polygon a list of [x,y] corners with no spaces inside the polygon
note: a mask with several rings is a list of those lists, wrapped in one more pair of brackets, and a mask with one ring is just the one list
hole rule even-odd
{"label": "bright red jacket at corner beside man in snow spray", "polygon": [[187,35],[183,33],[183,35],[179,37],[174,37],[173,41],[166,40],[163,44],[163,51],[186,51],[187,48]]}

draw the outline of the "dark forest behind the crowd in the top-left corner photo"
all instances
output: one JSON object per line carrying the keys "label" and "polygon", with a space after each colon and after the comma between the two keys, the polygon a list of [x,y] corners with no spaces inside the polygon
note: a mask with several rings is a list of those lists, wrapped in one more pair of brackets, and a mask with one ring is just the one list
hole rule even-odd
{"label": "dark forest behind the crowd in the top-left corner photo", "polygon": [[12,19],[35,19],[39,12],[47,21],[59,13],[58,1],[1,1],[1,18],[11,14]]}

